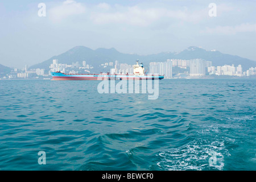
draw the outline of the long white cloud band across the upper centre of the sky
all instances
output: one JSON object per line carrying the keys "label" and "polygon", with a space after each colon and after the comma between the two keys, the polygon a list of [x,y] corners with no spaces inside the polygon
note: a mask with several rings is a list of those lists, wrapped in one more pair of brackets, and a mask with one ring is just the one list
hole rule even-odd
{"label": "long white cloud band across the upper centre of the sky", "polygon": [[126,23],[134,26],[149,26],[161,19],[180,20],[185,22],[198,23],[208,16],[208,9],[192,11],[188,9],[170,10],[167,7],[135,6],[110,6],[106,3],[98,5],[101,9],[109,11],[94,10],[90,13],[90,19],[95,24]]}

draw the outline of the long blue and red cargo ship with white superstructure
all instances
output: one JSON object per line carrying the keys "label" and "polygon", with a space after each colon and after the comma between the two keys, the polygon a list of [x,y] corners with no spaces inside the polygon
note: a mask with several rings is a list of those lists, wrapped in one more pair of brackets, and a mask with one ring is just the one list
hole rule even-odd
{"label": "long blue and red cargo ship with white superstructure", "polygon": [[51,72],[52,80],[162,80],[164,75],[146,75],[143,64],[137,60],[137,64],[133,65],[133,74],[66,74]]}

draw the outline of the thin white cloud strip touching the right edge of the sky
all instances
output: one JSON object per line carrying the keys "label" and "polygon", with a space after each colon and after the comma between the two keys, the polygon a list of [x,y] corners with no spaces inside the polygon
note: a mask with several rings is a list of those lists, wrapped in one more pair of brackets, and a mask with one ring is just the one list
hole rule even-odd
{"label": "thin white cloud strip touching the right edge of the sky", "polygon": [[215,28],[207,27],[204,33],[208,34],[224,34],[224,35],[235,35],[240,32],[256,32],[256,24],[242,23],[237,26],[217,26]]}

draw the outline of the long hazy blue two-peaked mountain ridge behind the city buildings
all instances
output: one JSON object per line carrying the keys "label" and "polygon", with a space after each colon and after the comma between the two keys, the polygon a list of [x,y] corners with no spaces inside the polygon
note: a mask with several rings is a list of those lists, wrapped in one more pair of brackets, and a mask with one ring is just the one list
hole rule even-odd
{"label": "long hazy blue two-peaked mountain ridge behind the city buildings", "polygon": [[207,51],[203,48],[195,46],[188,47],[179,53],[161,52],[145,56],[121,53],[114,48],[98,48],[93,50],[88,47],[77,46],[69,49],[69,51],[62,53],[61,55],[53,56],[50,59],[43,61],[42,63],[32,65],[30,68],[41,68],[49,70],[49,65],[52,64],[53,59],[59,60],[59,63],[62,64],[72,64],[72,62],[76,63],[76,61],[81,63],[82,61],[86,61],[86,64],[93,65],[93,67],[98,67],[100,64],[104,64],[110,61],[114,62],[115,60],[118,60],[119,63],[134,64],[135,60],[139,59],[139,61],[143,62],[144,64],[149,64],[152,61],[166,61],[167,59],[189,60],[197,58],[212,61],[213,66],[225,64],[234,64],[237,66],[241,64],[243,70],[249,69],[250,67],[256,67],[256,61],[239,56],[228,55],[221,53],[220,51]]}

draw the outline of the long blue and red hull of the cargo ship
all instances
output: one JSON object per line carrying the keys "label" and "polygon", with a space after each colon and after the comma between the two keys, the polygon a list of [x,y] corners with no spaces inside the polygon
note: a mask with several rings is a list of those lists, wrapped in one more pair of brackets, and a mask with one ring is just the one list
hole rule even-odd
{"label": "long blue and red hull of the cargo ship", "polygon": [[91,74],[64,74],[51,72],[52,80],[162,80],[164,76],[155,76],[155,75],[143,75],[143,76],[134,76],[134,75],[91,75]]}

